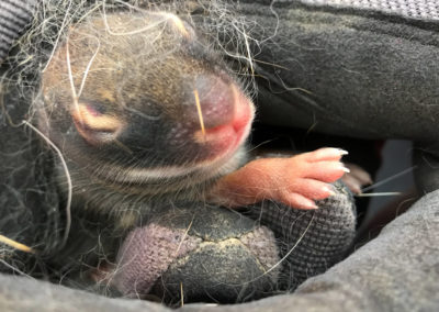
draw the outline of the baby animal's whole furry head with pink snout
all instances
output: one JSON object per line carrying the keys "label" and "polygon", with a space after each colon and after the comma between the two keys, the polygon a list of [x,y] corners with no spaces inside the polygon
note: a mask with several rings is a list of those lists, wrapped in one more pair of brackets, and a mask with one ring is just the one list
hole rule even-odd
{"label": "baby animal's whole furry head with pink snout", "polygon": [[212,178],[248,135],[252,103],[189,23],[106,14],[69,30],[43,75],[40,127],[112,182]]}

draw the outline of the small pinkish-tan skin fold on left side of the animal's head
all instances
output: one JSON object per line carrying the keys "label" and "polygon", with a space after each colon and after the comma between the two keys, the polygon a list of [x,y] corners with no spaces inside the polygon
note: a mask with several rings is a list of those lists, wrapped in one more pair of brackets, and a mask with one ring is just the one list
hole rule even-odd
{"label": "small pinkish-tan skin fold on left side of the animal's head", "polygon": [[70,114],[78,133],[92,145],[101,145],[114,141],[125,126],[122,118],[102,113],[88,103],[78,103],[70,111]]}

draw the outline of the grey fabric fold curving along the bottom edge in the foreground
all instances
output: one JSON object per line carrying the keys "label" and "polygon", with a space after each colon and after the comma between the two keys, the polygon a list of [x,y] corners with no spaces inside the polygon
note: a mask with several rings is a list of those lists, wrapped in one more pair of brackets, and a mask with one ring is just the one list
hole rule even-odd
{"label": "grey fabric fold curving along the bottom edge in the foreground", "polygon": [[[439,191],[420,199],[382,233],[297,291],[238,305],[184,304],[177,311],[438,311]],[[25,299],[25,300],[23,300]],[[49,304],[48,304],[49,302]],[[58,285],[0,275],[1,311],[172,311]],[[173,310],[176,311],[176,310]]]}

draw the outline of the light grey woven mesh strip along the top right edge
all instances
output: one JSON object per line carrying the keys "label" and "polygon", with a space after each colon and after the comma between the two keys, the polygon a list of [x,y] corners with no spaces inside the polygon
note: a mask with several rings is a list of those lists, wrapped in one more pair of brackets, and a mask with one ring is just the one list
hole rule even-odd
{"label": "light grey woven mesh strip along the top right edge", "polygon": [[416,20],[439,21],[437,0],[301,0],[313,5],[373,10]]}

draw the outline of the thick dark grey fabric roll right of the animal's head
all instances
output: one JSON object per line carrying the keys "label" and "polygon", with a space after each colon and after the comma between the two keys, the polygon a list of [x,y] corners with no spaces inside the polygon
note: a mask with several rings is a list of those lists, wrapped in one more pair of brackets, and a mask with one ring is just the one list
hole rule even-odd
{"label": "thick dark grey fabric roll right of the animal's head", "polygon": [[410,140],[421,151],[415,164],[419,189],[439,189],[436,24],[297,1],[244,2],[241,12],[272,34],[257,56],[261,122]]}

